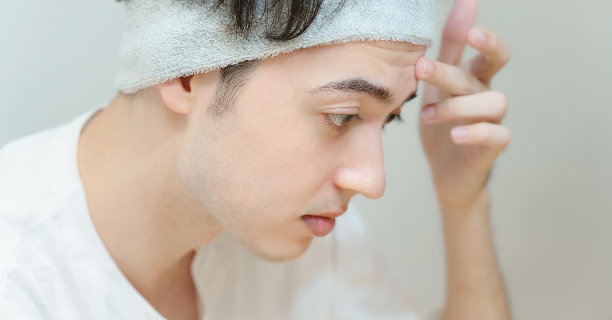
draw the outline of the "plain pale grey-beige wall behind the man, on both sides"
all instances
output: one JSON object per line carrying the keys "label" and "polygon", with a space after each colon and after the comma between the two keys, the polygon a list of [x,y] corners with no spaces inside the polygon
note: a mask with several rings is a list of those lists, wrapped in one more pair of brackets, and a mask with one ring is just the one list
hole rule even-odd
{"label": "plain pale grey-beige wall behind the man, on both sides", "polygon": [[[452,1],[438,2],[435,47]],[[515,319],[611,320],[612,2],[480,1],[476,26],[512,48],[492,83],[512,142],[491,176],[494,245]],[[6,1],[0,9],[0,145],[112,99],[122,4]],[[466,50],[464,58],[476,54]],[[420,88],[422,90],[421,83]],[[419,101],[384,134],[385,196],[357,196],[371,236],[425,310],[444,305],[438,204]]]}

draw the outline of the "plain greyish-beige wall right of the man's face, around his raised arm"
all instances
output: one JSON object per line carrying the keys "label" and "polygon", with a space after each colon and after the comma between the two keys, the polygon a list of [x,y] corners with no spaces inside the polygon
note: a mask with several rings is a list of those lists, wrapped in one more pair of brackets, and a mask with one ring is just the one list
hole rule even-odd
{"label": "plain greyish-beige wall right of the man's face, around his raised arm", "polygon": [[[439,3],[438,33],[449,9]],[[512,142],[490,191],[515,319],[612,319],[611,12],[609,1],[480,1],[476,25],[513,53],[492,84],[509,99]],[[408,124],[387,132],[385,196],[357,200],[394,266],[434,308],[444,302],[441,226],[418,104],[409,109]]]}

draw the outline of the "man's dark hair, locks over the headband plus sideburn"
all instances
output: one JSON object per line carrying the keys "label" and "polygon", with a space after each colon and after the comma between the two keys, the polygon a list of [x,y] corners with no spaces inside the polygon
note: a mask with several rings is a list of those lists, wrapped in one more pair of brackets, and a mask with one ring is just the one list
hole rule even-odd
{"label": "man's dark hair, locks over the headband plus sideburn", "polygon": [[[117,0],[121,1],[121,0]],[[263,34],[272,42],[286,42],[303,34],[319,14],[324,0],[265,0],[261,16],[256,12],[261,5],[258,0],[182,0],[196,2],[202,7],[207,1],[215,1],[211,13],[223,9],[230,14],[228,32],[245,39],[255,31],[261,21],[266,21]],[[343,6],[340,0],[337,9]],[[248,81],[249,75],[256,70],[256,59],[242,61],[220,70],[220,79],[210,112],[222,116],[233,106],[239,89]]]}

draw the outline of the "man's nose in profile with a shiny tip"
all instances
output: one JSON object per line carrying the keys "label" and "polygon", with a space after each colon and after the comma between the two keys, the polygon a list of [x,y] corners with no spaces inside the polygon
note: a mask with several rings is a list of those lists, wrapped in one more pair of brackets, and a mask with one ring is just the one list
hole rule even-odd
{"label": "man's nose in profile with a shiny tip", "polygon": [[335,185],[352,189],[369,199],[383,196],[385,188],[384,154],[381,132],[363,135],[346,145],[335,174]]}

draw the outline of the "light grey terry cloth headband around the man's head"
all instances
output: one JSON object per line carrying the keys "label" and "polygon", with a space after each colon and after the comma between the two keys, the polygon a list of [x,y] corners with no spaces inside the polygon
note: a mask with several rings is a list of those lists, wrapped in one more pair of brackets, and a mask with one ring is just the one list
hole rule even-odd
{"label": "light grey terry cloth headband around the man's head", "polygon": [[435,0],[345,0],[338,9],[339,1],[325,0],[303,34],[277,43],[258,36],[258,29],[247,39],[228,34],[230,13],[209,14],[215,1],[125,0],[114,86],[134,93],[173,78],[316,45],[368,39],[432,45]]}

